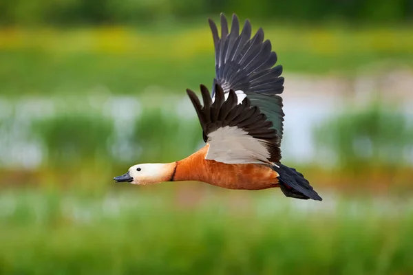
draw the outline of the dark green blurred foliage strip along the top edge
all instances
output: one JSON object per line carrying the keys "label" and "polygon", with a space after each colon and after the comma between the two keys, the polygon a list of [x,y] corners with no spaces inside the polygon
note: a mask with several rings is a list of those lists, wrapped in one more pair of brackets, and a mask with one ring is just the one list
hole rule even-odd
{"label": "dark green blurred foliage strip along the top edge", "polygon": [[409,0],[16,0],[0,2],[0,23],[10,24],[123,24],[204,17],[237,12],[242,16],[289,21],[407,21]]}

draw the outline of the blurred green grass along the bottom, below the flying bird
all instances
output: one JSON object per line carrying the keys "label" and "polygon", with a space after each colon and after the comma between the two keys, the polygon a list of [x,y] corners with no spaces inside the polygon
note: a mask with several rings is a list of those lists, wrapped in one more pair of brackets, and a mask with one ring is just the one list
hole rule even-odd
{"label": "blurred green grass along the bottom, below the flying bird", "polygon": [[[155,188],[149,186],[146,190]],[[412,208],[372,200],[299,212],[267,190],[179,206],[169,188],[109,197],[0,195],[1,274],[411,274]],[[162,192],[165,191],[165,192]],[[213,190],[216,190],[215,188]],[[169,195],[167,195],[169,194]],[[215,195],[213,195],[215,194]],[[177,204],[178,203],[178,204]],[[381,201],[385,203],[385,201]],[[385,211],[384,211],[385,210]],[[391,212],[395,210],[395,212]]]}

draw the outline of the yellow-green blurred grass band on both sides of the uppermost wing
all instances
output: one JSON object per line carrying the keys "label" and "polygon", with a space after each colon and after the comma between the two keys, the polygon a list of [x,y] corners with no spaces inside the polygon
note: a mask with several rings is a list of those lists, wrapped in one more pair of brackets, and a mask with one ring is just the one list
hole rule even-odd
{"label": "yellow-green blurred grass band on both sides of the uppermost wing", "polygon": [[[254,30],[258,27],[254,25]],[[266,23],[266,39],[286,74],[355,75],[390,61],[413,67],[412,28],[294,26]],[[136,94],[211,85],[213,44],[207,24],[168,28],[0,30],[0,93],[83,94],[98,87]],[[386,67],[387,68],[387,67]]]}

